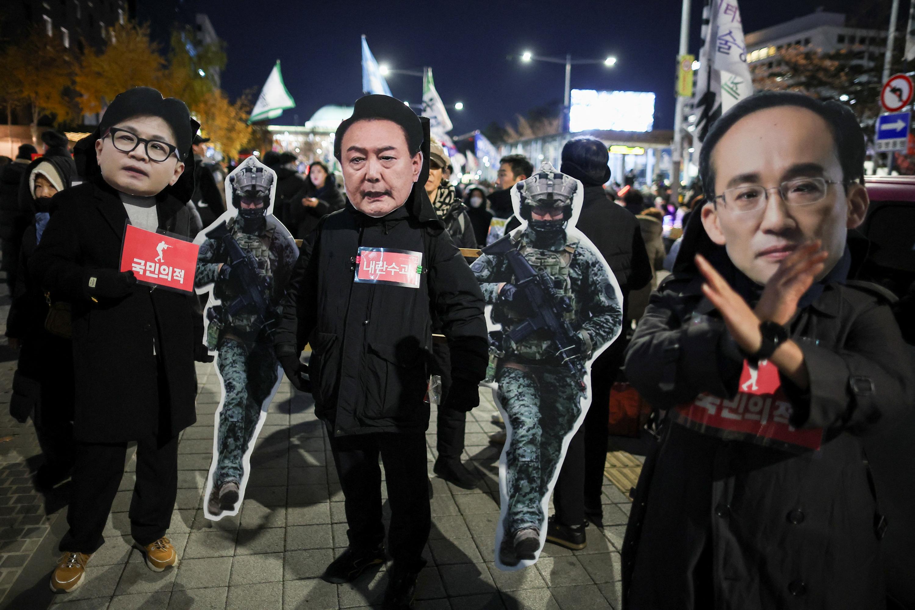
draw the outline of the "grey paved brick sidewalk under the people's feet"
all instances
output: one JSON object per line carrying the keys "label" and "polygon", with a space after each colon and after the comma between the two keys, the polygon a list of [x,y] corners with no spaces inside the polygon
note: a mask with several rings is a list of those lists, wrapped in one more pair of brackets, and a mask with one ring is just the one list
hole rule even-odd
{"label": "grey paved brick sidewalk under the people's feet", "polygon": [[[8,401],[6,363],[3,367],[0,391],[5,393],[0,398]],[[318,578],[347,544],[343,497],[310,396],[293,394],[288,382],[274,399],[254,450],[253,473],[241,515],[215,523],[203,517],[202,493],[210,466],[213,413],[220,389],[211,365],[199,365],[198,371],[199,422],[182,434],[178,445],[178,503],[169,532],[182,555],[178,569],[152,573],[139,552],[130,547],[126,511],[134,483],[131,459],[127,465],[131,472],[124,476],[105,531],[107,541],[89,564],[89,581],[73,594],[46,596],[50,601],[40,607],[324,610],[379,605],[386,583],[383,568],[346,585],[328,584]],[[488,434],[497,430],[490,423],[495,412],[490,391],[481,391],[481,397],[483,404],[468,420],[466,458],[479,467],[484,483],[479,489],[467,491],[430,474],[435,491],[433,528],[425,551],[428,566],[420,576],[415,607],[619,609],[618,549],[629,502],[609,483],[604,488],[607,528],[603,532],[593,527],[587,530],[587,549],[572,552],[547,544],[533,567],[516,573],[495,568],[492,559],[499,516],[499,451],[488,444]],[[30,424],[9,426],[5,404],[0,408],[4,411],[0,413],[0,436],[16,433],[15,443],[0,443],[0,515],[9,512],[18,519],[0,521],[5,526],[0,539],[13,539],[0,541],[0,552],[7,553],[0,563],[0,588],[18,576],[14,588],[31,586],[38,592],[47,587],[45,579],[56,557],[55,536],[59,534],[48,534],[48,518],[31,488],[29,472],[38,463],[34,457],[34,432]],[[431,429],[435,430],[435,423]],[[435,434],[427,438],[431,473],[436,456]],[[23,459],[31,461],[25,465]],[[9,502],[5,498],[15,499]],[[4,508],[14,505],[21,508]],[[64,512],[59,510],[54,515],[60,519],[57,530],[63,525],[60,515]],[[7,576],[7,562],[15,566],[17,561],[25,561],[28,551],[37,546],[32,540],[40,540],[39,536],[47,540],[29,563],[32,569],[20,575],[16,567],[9,567],[11,575]],[[23,552],[7,552],[20,545]],[[19,555],[18,560],[11,559]],[[33,567],[35,564],[38,568]],[[22,582],[24,579],[28,582]],[[16,597],[24,599],[27,597]],[[12,602],[7,599],[0,605]]]}

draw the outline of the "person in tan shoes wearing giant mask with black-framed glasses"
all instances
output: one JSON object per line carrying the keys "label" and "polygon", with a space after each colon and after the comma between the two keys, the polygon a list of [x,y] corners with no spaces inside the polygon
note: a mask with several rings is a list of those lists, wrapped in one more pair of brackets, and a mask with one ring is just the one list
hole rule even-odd
{"label": "person in tan shoes wearing giant mask with black-framed glasses", "polygon": [[136,442],[131,533],[155,572],[178,556],[166,537],[178,493],[178,433],[196,421],[195,356],[209,360],[193,293],[137,284],[120,272],[124,228],[190,238],[194,189],[184,102],[136,87],[114,98],[96,131],[77,144],[87,181],[54,196],[29,263],[35,282],[70,302],[76,401],[72,495],[51,589],[84,582],[86,563]]}

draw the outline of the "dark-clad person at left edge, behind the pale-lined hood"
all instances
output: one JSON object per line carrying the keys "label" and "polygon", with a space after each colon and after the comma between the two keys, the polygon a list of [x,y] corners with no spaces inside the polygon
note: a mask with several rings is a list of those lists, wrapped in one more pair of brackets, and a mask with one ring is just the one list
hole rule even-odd
{"label": "dark-clad person at left edge, behind the pale-lined hood", "polygon": [[6,285],[10,294],[16,291],[16,270],[19,267],[19,251],[22,250],[22,234],[30,222],[28,211],[19,208],[19,192],[32,155],[38,151],[32,144],[22,144],[12,163],[6,164],[0,173],[0,248],[3,262],[0,270],[6,272]]}

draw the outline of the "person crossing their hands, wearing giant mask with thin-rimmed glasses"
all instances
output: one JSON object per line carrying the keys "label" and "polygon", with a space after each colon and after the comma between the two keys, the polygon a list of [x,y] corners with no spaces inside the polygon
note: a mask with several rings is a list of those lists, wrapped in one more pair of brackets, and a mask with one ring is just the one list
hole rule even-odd
{"label": "person crossing their hands, wearing giant mask with thin-rimmed glasses", "polygon": [[847,279],[865,150],[845,105],[787,91],[710,128],[708,202],[626,354],[665,419],[623,542],[624,607],[887,607],[865,441],[911,413],[915,368],[886,291]]}

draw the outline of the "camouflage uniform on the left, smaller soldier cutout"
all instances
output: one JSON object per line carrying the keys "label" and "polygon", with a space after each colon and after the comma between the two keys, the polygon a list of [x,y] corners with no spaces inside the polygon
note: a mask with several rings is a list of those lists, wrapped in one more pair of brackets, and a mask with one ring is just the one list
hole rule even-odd
{"label": "camouflage uniform on the left, smaller soldier cutout", "polygon": [[210,307],[216,315],[211,315],[207,329],[208,347],[219,352],[216,365],[225,388],[214,487],[229,481],[241,483],[242,456],[253,440],[264,401],[279,379],[270,329],[279,319],[278,305],[297,257],[295,242],[272,216],[266,218],[264,230],[256,235],[242,231],[238,219],[230,219],[223,226],[256,269],[258,288],[268,309],[266,320],[261,319],[254,305],[244,305],[230,313],[231,304],[245,294],[246,288],[219,278],[220,263],[229,262],[230,255],[217,236],[220,228],[210,231],[200,246],[195,284],[215,283],[213,294],[221,300],[221,305]]}

